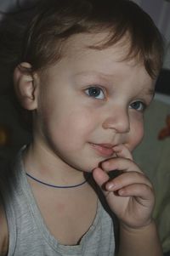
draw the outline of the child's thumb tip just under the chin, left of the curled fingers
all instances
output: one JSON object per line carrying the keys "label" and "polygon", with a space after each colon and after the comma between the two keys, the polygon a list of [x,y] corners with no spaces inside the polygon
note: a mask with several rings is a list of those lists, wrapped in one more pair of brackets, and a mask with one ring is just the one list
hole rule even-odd
{"label": "child's thumb tip just under the chin, left of the curled fingers", "polygon": [[110,179],[109,175],[101,168],[95,168],[93,171],[93,177],[104,194],[108,194],[108,191],[105,191],[105,183]]}

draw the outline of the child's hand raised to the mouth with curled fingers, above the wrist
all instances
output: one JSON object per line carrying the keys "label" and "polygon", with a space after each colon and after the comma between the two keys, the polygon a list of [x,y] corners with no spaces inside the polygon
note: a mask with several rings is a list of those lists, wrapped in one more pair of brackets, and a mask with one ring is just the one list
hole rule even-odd
{"label": "child's hand raised to the mouth with curled fingers, above the wrist", "polygon": [[[117,157],[102,162],[101,168],[94,169],[94,180],[122,225],[131,229],[142,228],[151,222],[155,203],[153,187],[133,162],[133,156],[125,145],[115,146],[114,151]],[[111,170],[120,170],[122,174],[110,179],[108,173]]]}

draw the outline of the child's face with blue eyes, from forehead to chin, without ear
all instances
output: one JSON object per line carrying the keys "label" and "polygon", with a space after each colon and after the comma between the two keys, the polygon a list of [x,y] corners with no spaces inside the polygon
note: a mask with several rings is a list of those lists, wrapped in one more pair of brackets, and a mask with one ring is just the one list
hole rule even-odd
{"label": "child's face with blue eyes, from forehead to chin, without ear", "polygon": [[72,37],[65,57],[40,74],[37,94],[36,139],[59,162],[83,171],[115,156],[114,145],[133,151],[154,91],[143,65],[121,61],[121,45],[86,48],[101,36]]}

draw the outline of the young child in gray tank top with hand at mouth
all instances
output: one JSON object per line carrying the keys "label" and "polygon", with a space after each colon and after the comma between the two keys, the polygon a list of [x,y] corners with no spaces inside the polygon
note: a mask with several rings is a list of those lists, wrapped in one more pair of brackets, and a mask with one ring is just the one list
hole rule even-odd
{"label": "young child in gray tank top with hand at mouth", "polygon": [[161,58],[131,1],[42,5],[14,70],[33,139],[2,192],[1,255],[115,255],[114,215],[119,256],[162,255],[153,187],[132,156]]}

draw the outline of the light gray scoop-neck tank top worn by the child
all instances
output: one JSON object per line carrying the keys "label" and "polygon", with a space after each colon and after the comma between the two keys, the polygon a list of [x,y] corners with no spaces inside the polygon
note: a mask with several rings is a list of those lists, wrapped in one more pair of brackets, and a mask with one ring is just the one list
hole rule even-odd
{"label": "light gray scoop-neck tank top worn by the child", "polygon": [[5,211],[8,220],[8,256],[114,255],[113,221],[100,202],[94,223],[82,236],[81,242],[74,246],[59,244],[50,234],[37,208],[20,155],[14,177],[8,180]]}

